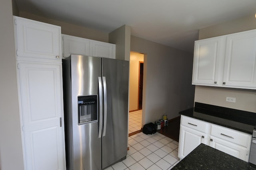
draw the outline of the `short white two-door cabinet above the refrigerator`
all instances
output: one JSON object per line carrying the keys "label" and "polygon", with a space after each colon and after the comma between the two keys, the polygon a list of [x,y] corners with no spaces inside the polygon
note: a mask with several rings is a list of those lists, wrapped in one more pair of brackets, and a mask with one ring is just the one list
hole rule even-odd
{"label": "short white two-door cabinet above the refrigerator", "polygon": [[116,45],[62,34],[63,57],[70,54],[116,58]]}

